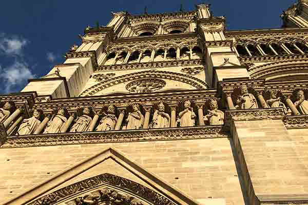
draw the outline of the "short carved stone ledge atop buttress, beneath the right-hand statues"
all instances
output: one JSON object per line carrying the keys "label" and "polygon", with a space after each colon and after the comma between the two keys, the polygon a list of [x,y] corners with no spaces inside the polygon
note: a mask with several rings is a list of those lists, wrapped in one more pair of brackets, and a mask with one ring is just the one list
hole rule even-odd
{"label": "short carved stone ledge atop buttress, beneath the right-hand statues", "polygon": [[226,110],[225,125],[232,121],[283,119],[285,116],[282,108],[262,108],[249,110]]}

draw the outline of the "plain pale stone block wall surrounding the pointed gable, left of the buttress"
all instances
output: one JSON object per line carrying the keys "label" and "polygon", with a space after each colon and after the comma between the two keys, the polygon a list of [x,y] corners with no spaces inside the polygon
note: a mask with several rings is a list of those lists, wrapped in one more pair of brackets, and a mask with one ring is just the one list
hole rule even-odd
{"label": "plain pale stone block wall surrounding the pointed gable, left of the buttress", "polygon": [[1,202],[114,147],[192,198],[216,204],[244,204],[232,144],[228,138],[216,138],[0,149]]}

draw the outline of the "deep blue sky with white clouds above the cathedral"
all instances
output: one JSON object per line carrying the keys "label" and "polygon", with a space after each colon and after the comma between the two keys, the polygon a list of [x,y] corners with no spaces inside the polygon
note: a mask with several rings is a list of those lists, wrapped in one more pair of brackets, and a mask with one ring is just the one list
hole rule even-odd
{"label": "deep blue sky with white clouds above the cathedral", "polygon": [[3,1],[0,8],[0,94],[19,92],[28,78],[45,75],[87,25],[106,25],[110,12],[162,13],[211,4],[215,16],[226,16],[227,30],[279,28],[282,10],[296,0],[30,0]]}

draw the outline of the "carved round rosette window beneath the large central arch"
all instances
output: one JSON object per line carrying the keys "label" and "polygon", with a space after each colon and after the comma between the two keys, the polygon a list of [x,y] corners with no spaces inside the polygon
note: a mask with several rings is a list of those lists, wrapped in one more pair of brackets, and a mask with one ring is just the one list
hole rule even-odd
{"label": "carved round rosette window beneath the large central arch", "polygon": [[126,90],[131,93],[154,92],[166,86],[166,82],[157,78],[148,78],[132,81],[126,86]]}

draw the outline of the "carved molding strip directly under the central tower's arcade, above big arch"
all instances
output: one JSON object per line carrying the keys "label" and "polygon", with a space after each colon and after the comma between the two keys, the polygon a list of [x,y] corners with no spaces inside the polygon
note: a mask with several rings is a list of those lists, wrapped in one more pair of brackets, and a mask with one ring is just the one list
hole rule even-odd
{"label": "carved molding strip directly under the central tower's arcade, above big arch", "polygon": [[95,72],[98,71],[112,71],[112,70],[140,70],[140,69],[153,69],[153,68],[169,68],[179,66],[201,66],[203,65],[202,59],[184,59],[184,60],[166,60],[166,61],[153,61],[148,63],[131,63],[98,66]]}

